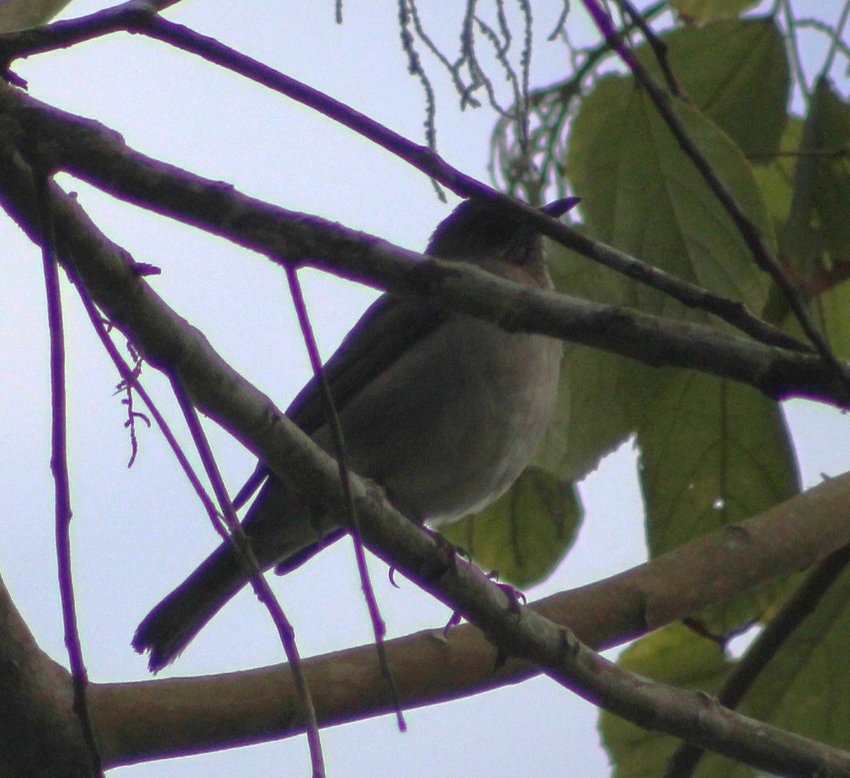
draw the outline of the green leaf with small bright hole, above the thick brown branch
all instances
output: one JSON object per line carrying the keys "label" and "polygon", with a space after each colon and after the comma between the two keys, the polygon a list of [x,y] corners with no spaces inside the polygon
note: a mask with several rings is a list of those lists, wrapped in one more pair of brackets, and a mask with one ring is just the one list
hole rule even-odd
{"label": "green leaf with small bright hole, above the thick brown branch", "polygon": [[[799,489],[779,406],[751,387],[697,372],[664,371],[638,426],[652,556],[770,508]],[[700,614],[727,634],[762,616],[781,584]]]}

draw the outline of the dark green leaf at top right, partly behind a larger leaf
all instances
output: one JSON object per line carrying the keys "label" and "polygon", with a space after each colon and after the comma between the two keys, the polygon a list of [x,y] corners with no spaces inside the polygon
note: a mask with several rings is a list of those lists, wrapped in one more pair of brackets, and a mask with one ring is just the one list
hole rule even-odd
{"label": "dark green leaf at top right, partly behind a larger leaf", "polygon": [[[791,74],[785,40],[772,17],[678,27],[661,40],[688,98],[745,155],[776,150],[787,120]],[[661,79],[648,44],[635,54]]]}

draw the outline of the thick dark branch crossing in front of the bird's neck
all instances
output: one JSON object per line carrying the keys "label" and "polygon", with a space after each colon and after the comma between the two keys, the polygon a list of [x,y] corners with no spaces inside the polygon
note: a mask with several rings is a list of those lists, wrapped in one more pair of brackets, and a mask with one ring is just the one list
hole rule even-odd
{"label": "thick dark branch crossing in front of the bird's neck", "polygon": [[[128,200],[147,203],[157,213],[200,226],[280,262],[317,264],[341,275],[371,278],[402,294],[439,297],[452,309],[509,330],[541,332],[654,366],[711,372],[749,383],[776,399],[803,395],[839,406],[850,401],[847,389],[813,355],[754,343],[706,325],[553,292],[522,289],[519,293],[521,287],[468,265],[423,261],[421,254],[387,241],[271,206],[229,185],[129,153],[116,133],[95,122],[34,105],[31,99],[0,89],[0,111],[7,111],[2,116],[8,120],[0,122],[0,129],[6,138],[17,139],[28,152],[46,155],[46,162],[96,185],[120,190],[120,196]],[[530,210],[535,219],[555,224]],[[555,224],[547,233],[563,226]]]}

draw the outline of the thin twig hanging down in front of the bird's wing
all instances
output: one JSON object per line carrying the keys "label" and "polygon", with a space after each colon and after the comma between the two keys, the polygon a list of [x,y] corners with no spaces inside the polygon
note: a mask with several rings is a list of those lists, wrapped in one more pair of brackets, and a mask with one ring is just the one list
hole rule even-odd
{"label": "thin twig hanging down in front of the bird's wing", "polygon": [[393,671],[389,667],[386,645],[384,643],[384,638],[387,636],[387,625],[384,623],[381,616],[381,610],[377,605],[375,589],[372,587],[371,577],[369,576],[369,565],[366,564],[365,548],[360,535],[360,521],[357,518],[357,510],[354,508],[354,498],[351,495],[351,477],[348,470],[348,457],[346,457],[345,452],[343,427],[339,422],[337,406],[333,400],[331,387],[327,383],[325,370],[322,366],[321,357],[319,355],[319,347],[316,345],[313,326],[310,324],[309,314],[307,312],[307,304],[304,301],[301,284],[298,281],[298,271],[291,264],[286,265],[286,280],[289,281],[289,292],[292,295],[292,304],[295,306],[298,324],[301,327],[304,345],[306,346],[307,353],[309,355],[310,366],[313,368],[315,378],[319,381],[322,404],[325,406],[327,424],[331,429],[331,438],[333,439],[333,446],[337,456],[337,463],[339,465],[340,486],[342,486],[343,489],[345,510],[348,514],[348,521],[351,527],[351,538],[354,542],[354,557],[357,559],[357,571],[360,574],[360,587],[363,589],[366,607],[369,610],[372,633],[375,636],[375,647],[377,649],[378,662],[381,666],[382,676],[387,681],[390,696],[393,700],[395,718],[398,721],[399,730],[404,732],[407,730],[407,724],[405,723],[404,713],[401,711],[399,690],[395,684]]}

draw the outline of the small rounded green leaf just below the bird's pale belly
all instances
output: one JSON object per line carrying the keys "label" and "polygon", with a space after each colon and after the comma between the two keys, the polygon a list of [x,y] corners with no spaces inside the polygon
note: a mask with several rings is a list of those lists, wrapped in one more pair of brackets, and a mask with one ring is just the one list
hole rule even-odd
{"label": "small rounded green leaf just below the bird's pale belly", "polygon": [[545,578],[564,557],[581,524],[575,488],[532,465],[495,503],[475,516],[441,526],[501,580],[526,587]]}

